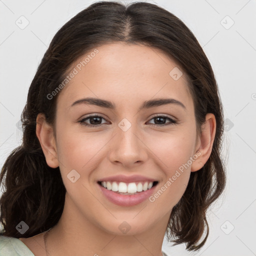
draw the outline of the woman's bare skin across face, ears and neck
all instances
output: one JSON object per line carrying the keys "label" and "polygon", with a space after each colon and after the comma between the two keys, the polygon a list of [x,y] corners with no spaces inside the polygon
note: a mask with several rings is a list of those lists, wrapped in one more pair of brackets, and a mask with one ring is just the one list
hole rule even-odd
{"label": "woman's bare skin across face, ears and neck", "polygon": [[[117,256],[121,251],[127,256],[160,256],[172,207],[184,193],[190,172],[199,170],[210,156],[215,118],[208,113],[201,134],[196,133],[185,73],[158,49],[123,43],[97,49],[58,94],[56,137],[44,115],[37,116],[36,135],[46,162],[53,168],[59,166],[67,190],[60,220],[47,236],[47,251],[51,256],[84,255],[85,251],[86,255]],[[169,75],[175,66],[183,72],[178,80]],[[70,107],[84,97],[112,101],[116,109],[91,104]],[[139,110],[145,100],[166,97],[181,101],[185,109],[166,104]],[[101,115],[96,124],[105,124],[87,127],[79,123],[88,114]],[[152,119],[156,114],[177,123],[168,119],[157,123]],[[123,118],[131,124],[127,131],[118,126]],[[93,125],[89,119],[85,122]],[[108,201],[96,184],[110,175],[141,174],[158,180],[160,189],[196,151],[200,156],[154,202],[118,206]],[[72,169],[80,174],[75,183],[66,176]],[[130,226],[126,234],[118,229],[124,220]],[[42,234],[20,240],[35,255],[45,255]]]}

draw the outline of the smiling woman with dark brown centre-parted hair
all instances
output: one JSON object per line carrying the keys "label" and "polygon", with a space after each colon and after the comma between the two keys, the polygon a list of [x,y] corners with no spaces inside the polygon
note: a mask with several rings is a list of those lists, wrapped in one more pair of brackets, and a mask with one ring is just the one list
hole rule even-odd
{"label": "smiling woman with dark brown centre-parted hair", "polygon": [[189,251],[205,243],[225,185],[222,105],[172,13],[114,1],[79,12],[46,50],[22,125],[0,175],[4,255],[160,256],[165,233]]}

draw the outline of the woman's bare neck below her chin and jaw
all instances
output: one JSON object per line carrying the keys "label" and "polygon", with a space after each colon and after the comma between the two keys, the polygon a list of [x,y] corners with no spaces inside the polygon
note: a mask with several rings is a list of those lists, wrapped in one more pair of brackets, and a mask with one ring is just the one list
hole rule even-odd
{"label": "woman's bare neck below her chin and jaw", "polygon": [[[68,204],[65,201],[58,223],[47,233],[48,255],[83,255],[85,251],[86,255],[94,256],[102,254],[104,256],[162,255],[161,246],[170,212],[155,225],[148,225],[148,229],[122,234],[121,232],[111,233],[95,225],[93,216],[91,216],[92,219],[88,219],[79,211],[74,214],[74,207],[70,198]],[[116,220],[116,222],[122,221]],[[125,226],[124,222],[122,223]]]}

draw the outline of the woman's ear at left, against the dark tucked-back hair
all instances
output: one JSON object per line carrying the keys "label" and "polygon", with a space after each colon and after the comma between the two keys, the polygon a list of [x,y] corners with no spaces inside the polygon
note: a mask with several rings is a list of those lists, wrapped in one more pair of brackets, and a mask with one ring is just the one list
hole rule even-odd
{"label": "woman's ear at left, against the dark tucked-back hair", "polygon": [[39,113],[36,117],[36,136],[40,141],[47,164],[51,168],[56,168],[59,164],[53,128],[46,122],[43,113]]}

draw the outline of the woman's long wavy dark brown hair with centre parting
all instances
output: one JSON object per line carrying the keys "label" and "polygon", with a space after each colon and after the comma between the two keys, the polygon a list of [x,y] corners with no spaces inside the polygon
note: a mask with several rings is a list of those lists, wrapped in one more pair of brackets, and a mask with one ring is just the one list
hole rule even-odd
{"label": "woman's long wavy dark brown hair with centre parting", "polygon": [[[2,235],[30,237],[54,226],[62,213],[66,189],[59,168],[46,164],[35,133],[36,116],[44,113],[54,126],[56,98],[47,97],[63,81],[75,60],[104,43],[139,43],[156,47],[171,56],[189,77],[198,127],[206,113],[216,118],[212,151],[202,169],[191,172],[188,185],[173,207],[167,237],[197,250],[208,236],[205,212],[222,193],[225,169],[220,157],[223,110],[211,65],[193,33],[175,15],[152,3],[134,2],[126,6],[99,1],[80,11],[55,34],[30,84],[21,114],[23,141],[4,162],[0,182],[5,191],[0,198]],[[5,180],[4,180],[5,176]],[[58,203],[56,203],[58,202]],[[22,235],[16,225],[24,221]],[[199,241],[206,230],[204,239]]]}

